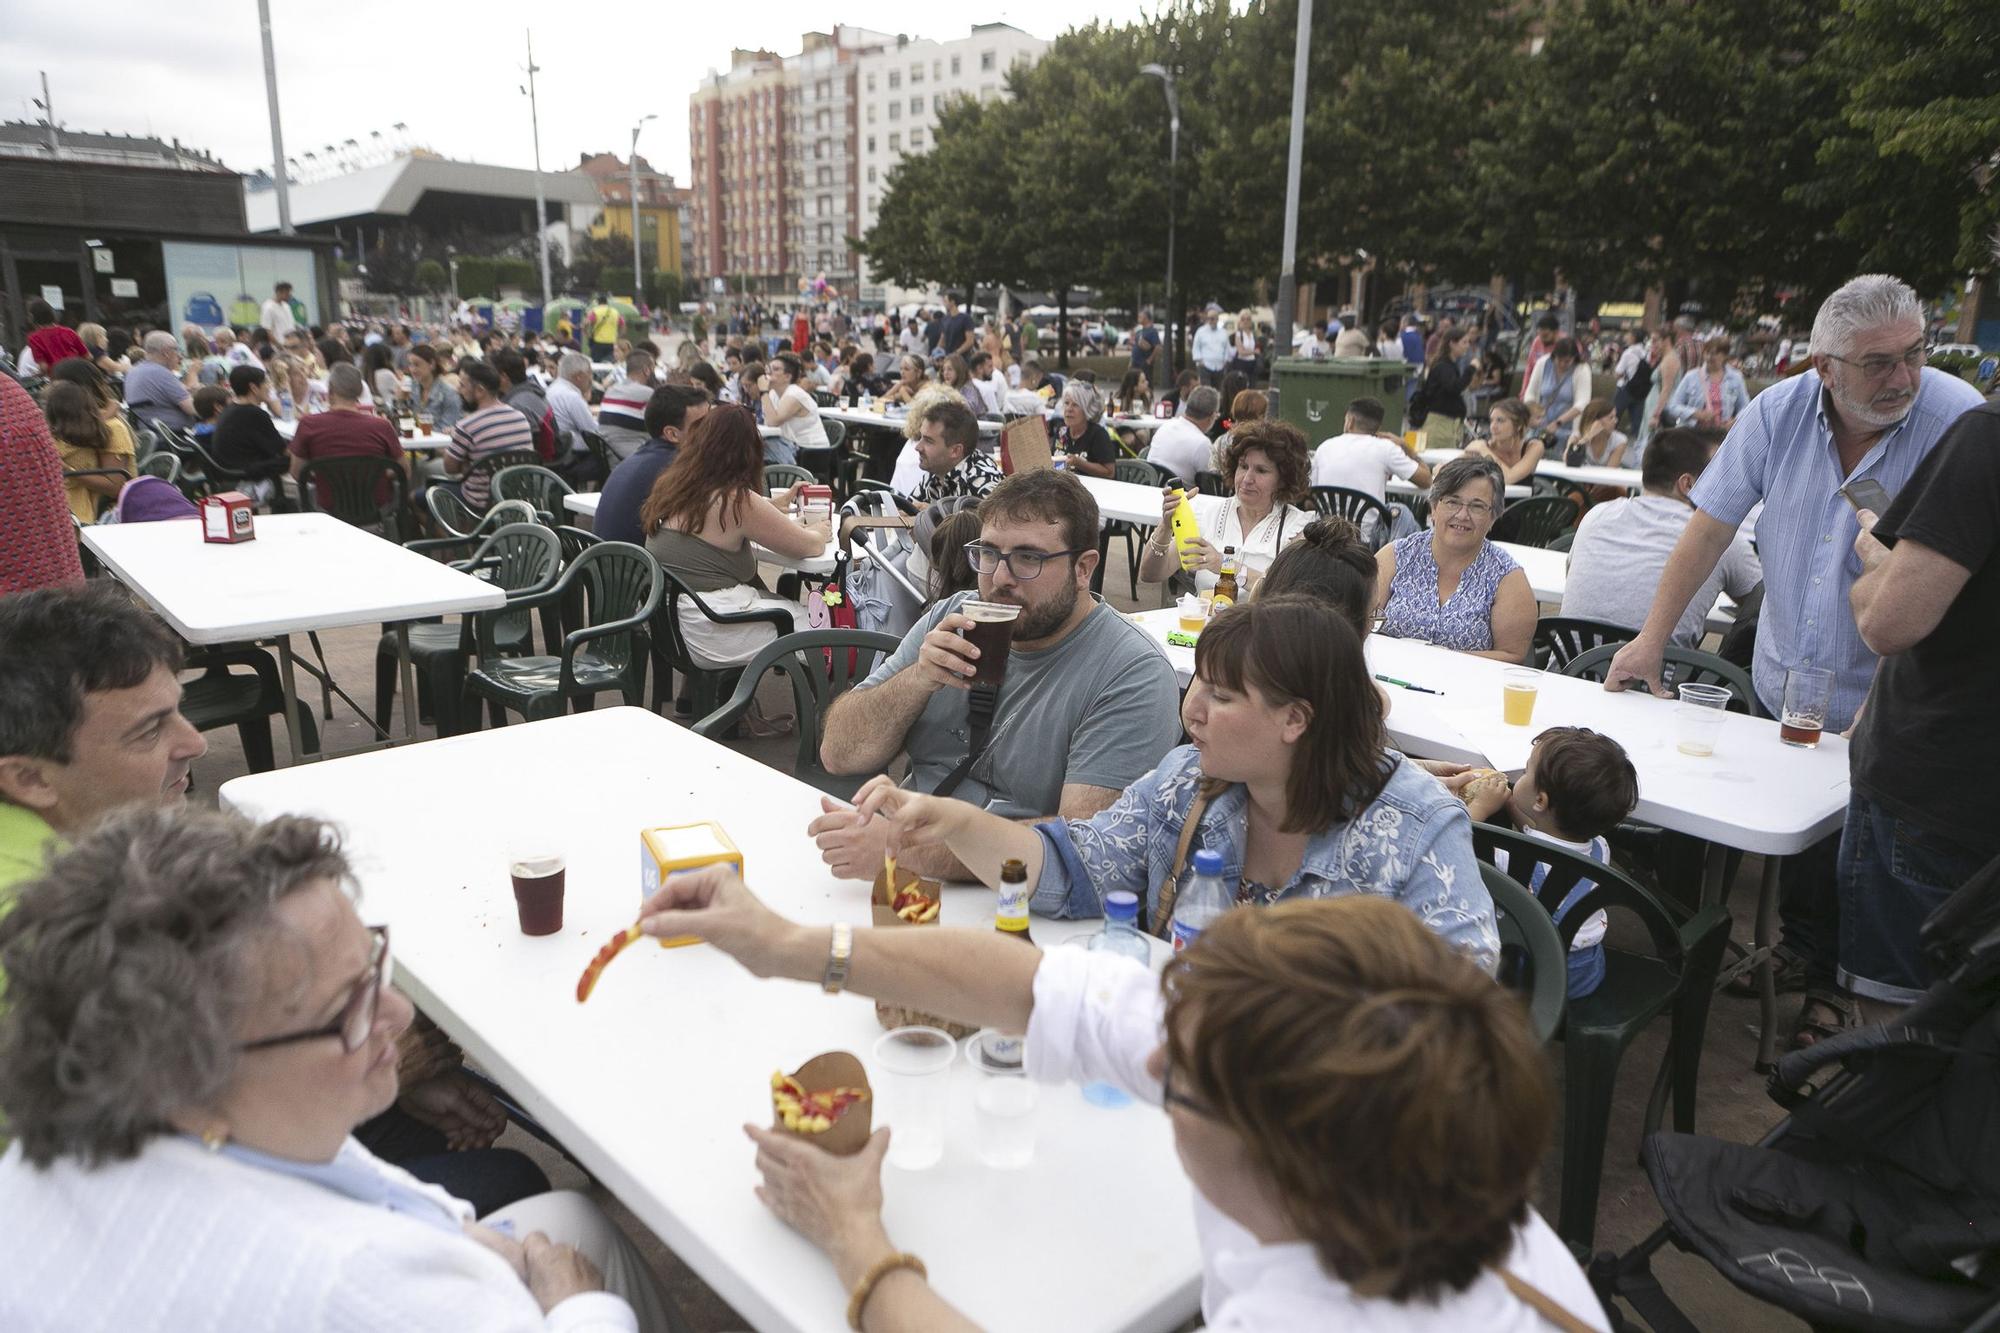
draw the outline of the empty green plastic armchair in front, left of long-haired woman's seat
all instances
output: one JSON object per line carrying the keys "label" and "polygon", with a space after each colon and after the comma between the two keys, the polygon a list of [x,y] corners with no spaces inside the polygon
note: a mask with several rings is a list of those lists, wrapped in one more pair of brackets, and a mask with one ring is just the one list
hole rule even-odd
{"label": "empty green plastic armchair in front, left of long-haired woman's seat", "polygon": [[[584,590],[584,624],[562,636],[558,652],[502,656],[502,616],[562,604],[572,588]],[[598,695],[616,691],[640,707],[646,693],[646,624],[660,608],[666,580],[660,562],[630,542],[598,542],[562,570],[552,586],[512,598],[502,610],[482,610],[474,620],[480,664],[466,675],[466,697],[484,699],[494,725],[506,713],[526,721],[562,717],[572,703],[586,709]],[[550,644],[554,646],[554,644]],[[468,711],[476,723],[476,711]]]}

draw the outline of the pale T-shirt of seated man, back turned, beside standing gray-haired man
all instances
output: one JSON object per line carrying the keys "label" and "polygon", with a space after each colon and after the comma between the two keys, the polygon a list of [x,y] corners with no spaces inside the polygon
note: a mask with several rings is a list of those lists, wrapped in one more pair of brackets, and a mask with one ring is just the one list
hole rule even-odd
{"label": "pale T-shirt of seated man, back turned, beside standing gray-haired man", "polygon": [[[1626,628],[1646,624],[1652,592],[1660,586],[1666,558],[1680,540],[1694,510],[1664,494],[1640,494],[1594,504],[1576,526],[1570,546],[1570,574],[1562,586],[1562,614],[1608,620]],[[1718,592],[1742,600],[1764,580],[1764,566],[1750,538],[1736,532],[1716,568],[1688,600],[1674,624],[1674,642],[1692,648],[1702,642],[1708,610]]]}

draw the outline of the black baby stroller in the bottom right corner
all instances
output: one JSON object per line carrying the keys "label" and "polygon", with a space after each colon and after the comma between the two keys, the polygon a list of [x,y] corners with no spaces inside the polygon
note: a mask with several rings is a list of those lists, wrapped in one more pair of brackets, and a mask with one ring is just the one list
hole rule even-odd
{"label": "black baby stroller in the bottom right corner", "polygon": [[1646,1139],[1666,1225],[1592,1263],[1614,1327],[1622,1295],[1654,1333],[1694,1333],[1650,1269],[1674,1243],[1814,1329],[2000,1329],[2000,859],[1922,943],[1938,981],[1900,1021],[1778,1061],[1792,1115],[1762,1143]]}

